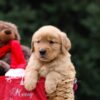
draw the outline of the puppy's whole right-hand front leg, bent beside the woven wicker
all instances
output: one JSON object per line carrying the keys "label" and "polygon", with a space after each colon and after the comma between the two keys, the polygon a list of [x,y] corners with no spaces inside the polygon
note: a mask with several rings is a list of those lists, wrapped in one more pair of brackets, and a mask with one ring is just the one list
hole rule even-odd
{"label": "puppy's whole right-hand front leg, bent beside the woven wicker", "polygon": [[46,76],[45,90],[48,94],[53,93],[56,90],[57,84],[61,82],[61,75],[57,72],[50,72]]}

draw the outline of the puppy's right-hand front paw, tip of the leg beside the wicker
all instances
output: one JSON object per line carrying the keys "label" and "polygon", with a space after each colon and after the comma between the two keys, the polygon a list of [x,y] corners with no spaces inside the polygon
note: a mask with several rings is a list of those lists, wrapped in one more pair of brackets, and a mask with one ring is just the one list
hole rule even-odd
{"label": "puppy's right-hand front paw, tip of the leg beside the wicker", "polygon": [[45,90],[48,94],[51,94],[56,90],[56,85],[54,84],[54,82],[46,82]]}

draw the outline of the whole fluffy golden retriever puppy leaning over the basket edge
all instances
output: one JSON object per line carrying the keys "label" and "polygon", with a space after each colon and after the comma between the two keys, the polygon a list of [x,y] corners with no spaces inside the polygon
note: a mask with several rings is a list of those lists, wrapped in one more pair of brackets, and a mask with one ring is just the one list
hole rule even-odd
{"label": "whole fluffy golden retriever puppy leaning over the basket edge", "polygon": [[71,42],[67,35],[55,26],[43,26],[33,34],[31,45],[32,55],[26,67],[25,88],[35,89],[38,78],[43,76],[47,94],[56,91],[62,80],[71,81],[69,86],[73,91],[76,71],[71,62]]}

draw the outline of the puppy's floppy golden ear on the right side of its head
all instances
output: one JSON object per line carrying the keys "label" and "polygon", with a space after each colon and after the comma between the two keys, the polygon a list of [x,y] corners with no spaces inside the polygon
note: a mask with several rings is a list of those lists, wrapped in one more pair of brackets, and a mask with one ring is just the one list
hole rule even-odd
{"label": "puppy's floppy golden ear on the right side of its head", "polygon": [[69,51],[71,49],[71,42],[69,40],[69,38],[67,37],[66,33],[61,32],[61,50],[62,53],[66,54],[67,51]]}

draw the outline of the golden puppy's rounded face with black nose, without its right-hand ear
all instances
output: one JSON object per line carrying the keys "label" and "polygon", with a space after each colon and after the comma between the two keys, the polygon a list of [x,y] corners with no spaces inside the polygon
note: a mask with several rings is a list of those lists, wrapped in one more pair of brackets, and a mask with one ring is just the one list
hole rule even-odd
{"label": "golden puppy's rounded face with black nose, without its right-hand ear", "polygon": [[63,42],[64,38],[59,29],[53,26],[45,26],[34,33],[32,50],[40,61],[49,62],[62,53]]}

